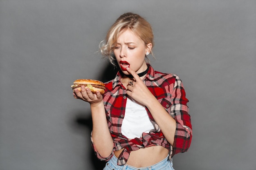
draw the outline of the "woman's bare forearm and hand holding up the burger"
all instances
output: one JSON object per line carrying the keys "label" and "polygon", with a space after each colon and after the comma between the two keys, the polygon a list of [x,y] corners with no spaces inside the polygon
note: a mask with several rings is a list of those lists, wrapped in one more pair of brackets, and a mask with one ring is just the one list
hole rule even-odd
{"label": "woman's bare forearm and hand holding up the burger", "polygon": [[101,157],[109,157],[113,150],[113,140],[108,129],[102,95],[99,91],[93,94],[89,88],[85,89],[84,86],[81,87],[81,92],[75,89],[73,95],[76,99],[82,99],[90,103],[94,149],[97,150]]}

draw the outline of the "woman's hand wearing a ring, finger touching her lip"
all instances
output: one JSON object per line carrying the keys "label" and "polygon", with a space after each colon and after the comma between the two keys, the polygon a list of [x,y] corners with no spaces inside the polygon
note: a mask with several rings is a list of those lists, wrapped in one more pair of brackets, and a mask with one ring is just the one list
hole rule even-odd
{"label": "woman's hand wearing a ring, finger touching her lip", "polygon": [[148,90],[147,86],[135,71],[133,71],[131,68],[127,68],[127,71],[134,77],[135,81],[128,80],[128,90],[126,94],[140,104],[147,106],[150,97],[154,97],[153,94]]}

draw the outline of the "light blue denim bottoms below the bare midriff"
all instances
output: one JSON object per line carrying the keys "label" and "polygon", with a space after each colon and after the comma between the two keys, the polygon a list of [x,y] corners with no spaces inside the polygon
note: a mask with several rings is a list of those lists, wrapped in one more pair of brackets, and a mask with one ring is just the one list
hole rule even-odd
{"label": "light blue denim bottoms below the bare midriff", "polygon": [[112,158],[106,163],[106,166],[103,170],[174,170],[173,162],[172,160],[168,160],[168,157],[156,163],[155,165],[135,168],[127,164],[122,166],[117,165],[117,157],[113,154]]}

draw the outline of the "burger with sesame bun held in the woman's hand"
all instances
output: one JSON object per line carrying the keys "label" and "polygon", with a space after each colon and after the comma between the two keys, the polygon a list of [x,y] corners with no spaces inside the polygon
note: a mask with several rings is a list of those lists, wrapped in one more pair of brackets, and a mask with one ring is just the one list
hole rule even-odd
{"label": "burger with sesame bun held in the woman's hand", "polygon": [[96,93],[99,91],[101,95],[105,93],[105,84],[99,80],[94,79],[77,79],[73,82],[73,85],[71,86],[73,91],[75,88],[77,88],[79,91],[81,91],[81,86],[85,86],[85,88],[90,88],[92,93]]}

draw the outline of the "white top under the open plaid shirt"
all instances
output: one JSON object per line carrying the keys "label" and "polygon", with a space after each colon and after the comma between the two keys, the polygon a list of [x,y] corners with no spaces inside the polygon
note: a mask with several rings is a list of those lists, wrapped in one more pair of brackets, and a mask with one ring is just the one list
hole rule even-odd
{"label": "white top under the open plaid shirt", "polygon": [[121,126],[122,134],[128,139],[140,138],[143,132],[148,133],[153,128],[145,106],[127,97],[125,116]]}

